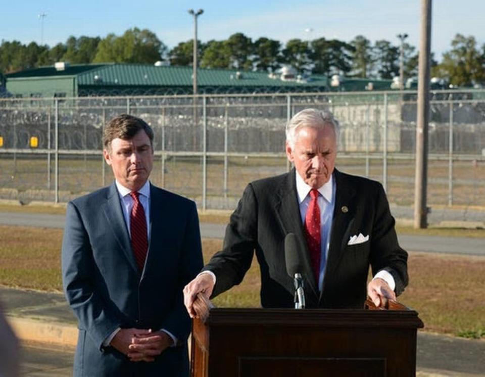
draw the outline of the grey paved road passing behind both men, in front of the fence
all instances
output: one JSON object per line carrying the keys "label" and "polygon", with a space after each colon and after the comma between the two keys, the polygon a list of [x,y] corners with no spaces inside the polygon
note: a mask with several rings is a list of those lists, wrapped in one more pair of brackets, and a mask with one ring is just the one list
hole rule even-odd
{"label": "grey paved road passing behind both men, in front of the fence", "polygon": [[[64,215],[0,212],[0,225],[43,226],[63,228]],[[225,225],[201,223],[204,238],[224,237]],[[475,238],[399,235],[399,243],[408,251],[452,253],[485,256],[485,240]]]}

